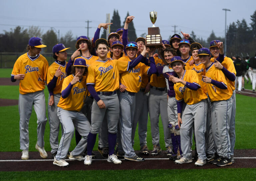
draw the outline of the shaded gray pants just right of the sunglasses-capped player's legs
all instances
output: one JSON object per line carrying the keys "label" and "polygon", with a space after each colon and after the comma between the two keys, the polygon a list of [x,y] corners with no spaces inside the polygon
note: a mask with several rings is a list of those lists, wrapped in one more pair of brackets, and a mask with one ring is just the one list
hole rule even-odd
{"label": "shaded gray pants just right of the sunglasses-capped player's legs", "polygon": [[147,145],[147,125],[148,125],[148,93],[137,92],[135,94],[135,113],[132,124],[132,145],[134,145],[134,137],[136,127],[138,125],[138,135],[140,147]]}

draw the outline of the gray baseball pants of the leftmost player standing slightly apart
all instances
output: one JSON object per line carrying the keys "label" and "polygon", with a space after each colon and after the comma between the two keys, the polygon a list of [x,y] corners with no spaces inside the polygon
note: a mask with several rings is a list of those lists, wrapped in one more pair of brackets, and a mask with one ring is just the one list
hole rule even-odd
{"label": "gray baseball pants of the leftmost player standing slightly apart", "polygon": [[47,122],[44,91],[19,95],[20,114],[20,149],[28,150],[29,135],[28,123],[32,112],[32,106],[37,116],[37,144],[44,147],[44,131]]}

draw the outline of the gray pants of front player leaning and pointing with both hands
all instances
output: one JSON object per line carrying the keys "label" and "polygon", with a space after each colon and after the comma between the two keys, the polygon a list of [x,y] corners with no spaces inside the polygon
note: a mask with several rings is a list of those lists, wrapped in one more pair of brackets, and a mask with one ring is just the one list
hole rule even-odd
{"label": "gray pants of front player leaning and pointing with both hands", "polygon": [[191,132],[195,127],[196,148],[198,158],[206,160],[205,154],[205,132],[207,120],[207,100],[204,99],[196,104],[187,104],[182,114],[182,124],[180,127],[181,150],[187,159],[192,158]]}

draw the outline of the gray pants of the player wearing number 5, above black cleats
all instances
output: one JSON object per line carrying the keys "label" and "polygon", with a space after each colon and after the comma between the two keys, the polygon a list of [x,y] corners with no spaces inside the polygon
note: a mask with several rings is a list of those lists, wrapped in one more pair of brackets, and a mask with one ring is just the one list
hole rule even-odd
{"label": "gray pants of the player wearing number 5, above black cleats", "polygon": [[232,98],[211,102],[211,122],[213,139],[219,156],[230,158],[229,124]]}

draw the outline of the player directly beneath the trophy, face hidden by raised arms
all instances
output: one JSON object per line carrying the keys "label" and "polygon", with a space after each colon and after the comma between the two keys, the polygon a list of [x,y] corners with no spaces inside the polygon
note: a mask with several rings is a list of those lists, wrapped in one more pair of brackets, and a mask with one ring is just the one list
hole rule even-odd
{"label": "player directly beneath the trophy, face hidden by raised arms", "polygon": [[[163,44],[168,46],[169,42],[163,40]],[[160,53],[159,53],[160,54]],[[157,67],[164,67],[165,64],[162,59],[154,57]],[[149,117],[151,123],[151,135],[153,150],[151,155],[157,155],[161,151],[160,147],[160,135],[159,135],[159,115],[161,114],[161,120],[164,129],[164,141],[166,147],[166,154],[168,156],[173,155],[171,132],[168,128],[169,119],[167,114],[167,88],[166,80],[163,74],[153,74],[150,77],[150,92],[149,92]]]}

